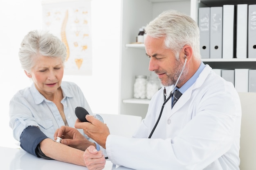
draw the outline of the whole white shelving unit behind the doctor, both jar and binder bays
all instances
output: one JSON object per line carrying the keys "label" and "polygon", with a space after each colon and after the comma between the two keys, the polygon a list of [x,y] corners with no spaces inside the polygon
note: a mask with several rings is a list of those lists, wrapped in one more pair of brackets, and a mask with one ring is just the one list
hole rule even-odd
{"label": "whole white shelving unit behind the doctor, both jar and binder bays", "polygon": [[[119,113],[145,117],[148,99],[133,99],[135,75],[150,75],[149,59],[145,55],[144,44],[134,44],[141,26],[146,26],[159,13],[168,9],[176,9],[191,16],[198,22],[199,7],[222,6],[223,4],[256,4],[254,0],[123,0],[121,26],[121,64],[119,88]],[[204,64],[212,68],[256,69],[256,59],[202,59]]]}

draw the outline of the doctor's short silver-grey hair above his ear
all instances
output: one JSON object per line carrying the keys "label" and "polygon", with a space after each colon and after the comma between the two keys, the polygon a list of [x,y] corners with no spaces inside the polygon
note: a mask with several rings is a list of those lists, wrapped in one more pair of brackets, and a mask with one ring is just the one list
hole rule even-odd
{"label": "doctor's short silver-grey hair above his ear", "polygon": [[200,32],[196,22],[188,15],[175,10],[164,11],[149,22],[145,33],[152,38],[165,37],[167,49],[171,49],[178,59],[180,50],[189,45],[193,55],[200,60]]}

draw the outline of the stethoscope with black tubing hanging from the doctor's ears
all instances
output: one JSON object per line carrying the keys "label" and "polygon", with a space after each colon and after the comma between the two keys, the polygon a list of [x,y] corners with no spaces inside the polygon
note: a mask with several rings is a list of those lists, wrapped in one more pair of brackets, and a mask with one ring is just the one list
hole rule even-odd
{"label": "stethoscope with black tubing hanging from the doctor's ears", "polygon": [[168,97],[167,99],[166,99],[166,96],[167,96],[167,94],[166,94],[166,89],[165,89],[165,87],[164,87],[164,103],[163,103],[163,105],[162,105],[162,108],[161,108],[160,114],[159,114],[159,116],[158,116],[158,119],[157,119],[157,121],[156,121],[156,123],[155,123],[155,126],[154,126],[154,128],[152,129],[152,131],[151,131],[150,135],[148,136],[148,138],[151,138],[151,136],[153,135],[153,132],[155,131],[155,128],[157,127],[157,124],[158,124],[158,122],[159,122],[159,120],[160,120],[160,118],[161,118],[161,116],[162,116],[163,110],[164,110],[164,105],[168,102],[169,99],[171,99],[171,97],[173,97],[174,89],[175,89],[175,87],[177,86],[177,84],[178,84],[178,82],[179,82],[179,80],[180,80],[180,76],[182,75],[182,72],[183,72],[183,70],[184,70],[184,68],[185,68],[185,66],[186,66],[186,55],[184,56],[184,58],[185,58],[185,62],[184,62],[184,65],[183,65],[183,67],[182,67],[182,70],[181,70],[181,72],[180,72],[180,75],[179,75],[179,77],[178,77],[178,79],[177,79],[175,85],[173,86],[173,89],[172,89],[172,91],[171,91],[171,93],[170,93],[170,95],[169,95],[169,97]]}

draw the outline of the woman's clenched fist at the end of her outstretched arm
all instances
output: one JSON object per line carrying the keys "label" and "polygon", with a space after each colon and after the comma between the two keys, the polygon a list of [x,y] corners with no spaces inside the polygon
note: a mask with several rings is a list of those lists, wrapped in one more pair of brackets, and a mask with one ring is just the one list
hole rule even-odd
{"label": "woman's clenched fist at the end of her outstretched arm", "polygon": [[97,151],[94,146],[89,146],[85,150],[83,154],[83,160],[89,170],[102,170],[106,164],[106,159],[103,153],[101,150]]}

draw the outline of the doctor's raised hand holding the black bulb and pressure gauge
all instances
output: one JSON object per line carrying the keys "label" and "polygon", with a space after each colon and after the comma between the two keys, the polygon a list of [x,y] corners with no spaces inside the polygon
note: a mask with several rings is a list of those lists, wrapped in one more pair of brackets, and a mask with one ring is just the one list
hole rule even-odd
{"label": "doctor's raised hand holding the black bulb and pressure gauge", "polygon": [[85,118],[89,122],[81,122],[76,120],[75,128],[83,129],[83,132],[96,141],[100,146],[106,149],[106,140],[110,135],[108,126],[98,119],[95,119],[92,115],[86,115]]}

